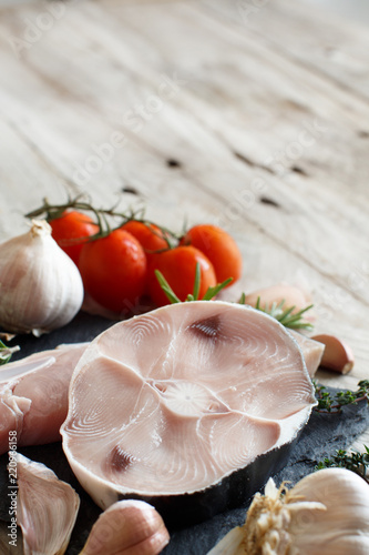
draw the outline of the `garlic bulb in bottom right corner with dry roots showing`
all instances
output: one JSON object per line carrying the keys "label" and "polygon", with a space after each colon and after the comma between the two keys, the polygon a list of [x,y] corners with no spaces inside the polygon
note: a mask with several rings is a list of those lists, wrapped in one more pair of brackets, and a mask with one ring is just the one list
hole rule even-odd
{"label": "garlic bulb in bottom right corner with dry roots showing", "polygon": [[[285,495],[283,495],[285,493]],[[208,555],[368,555],[369,484],[346,468],[325,468],[290,491],[270,478],[246,523]]]}

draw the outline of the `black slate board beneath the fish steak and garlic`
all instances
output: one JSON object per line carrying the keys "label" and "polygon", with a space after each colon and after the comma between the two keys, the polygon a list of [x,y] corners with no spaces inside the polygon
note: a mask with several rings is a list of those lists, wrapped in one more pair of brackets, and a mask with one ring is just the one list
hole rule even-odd
{"label": "black slate board beneath the fish steak and garlic", "polygon": [[[13,360],[35,351],[53,349],[60,343],[91,341],[113,323],[81,312],[68,326],[40,339],[18,336],[12,344],[19,344],[21,353],[17,353]],[[288,464],[274,476],[275,482],[278,485],[283,481],[290,481],[291,485],[295,484],[312,472],[318,461],[332,456],[338,448],[348,447],[367,427],[369,427],[369,410],[366,403],[346,406],[341,414],[329,415],[314,412],[290,454]],[[78,491],[81,497],[81,508],[66,555],[79,554],[101,509],[80,487],[68,465],[61,444],[21,447],[19,452],[33,461],[44,463],[55,472],[59,478],[69,482]],[[9,521],[7,463],[8,455],[6,454],[0,457],[0,517],[4,521]],[[181,529],[181,523],[178,523],[180,528],[171,531],[171,543],[163,554],[205,555],[232,527],[245,522],[248,504],[249,502],[246,501],[242,507],[219,514],[196,526]]]}

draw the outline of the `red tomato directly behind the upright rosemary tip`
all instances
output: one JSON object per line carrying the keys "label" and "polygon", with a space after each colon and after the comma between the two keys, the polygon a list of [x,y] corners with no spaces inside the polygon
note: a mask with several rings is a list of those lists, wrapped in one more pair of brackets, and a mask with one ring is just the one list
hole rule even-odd
{"label": "red tomato directly behind the upright rosemary tip", "polygon": [[212,263],[201,251],[194,246],[176,246],[152,259],[148,266],[148,290],[157,306],[170,304],[170,301],[160,286],[154,271],[160,270],[177,297],[185,301],[194,290],[197,262],[201,265],[198,299],[202,299],[208,287],[216,285],[216,278]]}

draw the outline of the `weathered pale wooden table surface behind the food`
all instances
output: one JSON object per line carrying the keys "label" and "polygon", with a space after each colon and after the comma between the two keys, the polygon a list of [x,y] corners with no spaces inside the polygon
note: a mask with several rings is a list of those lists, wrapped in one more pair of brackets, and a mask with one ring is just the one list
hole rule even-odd
{"label": "weathered pale wooden table surface behind the food", "polygon": [[[0,9],[0,240],[47,196],[216,223],[238,292],[311,292],[316,332],[369,375],[369,33],[289,0],[86,0]],[[125,189],[140,193],[122,193]],[[369,441],[369,434],[362,442]]]}

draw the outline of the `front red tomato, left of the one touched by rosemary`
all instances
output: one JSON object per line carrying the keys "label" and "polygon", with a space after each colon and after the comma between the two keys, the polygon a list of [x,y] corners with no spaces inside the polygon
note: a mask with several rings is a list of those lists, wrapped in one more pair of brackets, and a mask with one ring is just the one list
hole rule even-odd
{"label": "front red tomato, left of the one touched by rosemary", "polygon": [[130,312],[139,302],[146,271],[147,261],[141,244],[121,229],[85,243],[81,251],[80,272],[85,291],[113,312]]}

